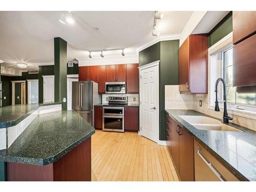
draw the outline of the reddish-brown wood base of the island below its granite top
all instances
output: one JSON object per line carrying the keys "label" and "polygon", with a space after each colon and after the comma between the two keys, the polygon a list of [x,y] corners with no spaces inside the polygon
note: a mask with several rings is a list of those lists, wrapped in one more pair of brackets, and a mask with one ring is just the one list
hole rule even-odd
{"label": "reddish-brown wood base of the island below its granite top", "polygon": [[91,181],[91,137],[52,164],[7,162],[7,181]]}

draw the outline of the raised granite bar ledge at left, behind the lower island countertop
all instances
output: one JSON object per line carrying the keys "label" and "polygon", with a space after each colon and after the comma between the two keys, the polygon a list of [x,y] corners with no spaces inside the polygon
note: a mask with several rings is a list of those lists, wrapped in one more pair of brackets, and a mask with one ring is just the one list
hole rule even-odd
{"label": "raised granite bar ledge at left, behind the lower island countertop", "polygon": [[15,126],[40,106],[61,104],[62,102],[15,104],[0,108],[0,129]]}

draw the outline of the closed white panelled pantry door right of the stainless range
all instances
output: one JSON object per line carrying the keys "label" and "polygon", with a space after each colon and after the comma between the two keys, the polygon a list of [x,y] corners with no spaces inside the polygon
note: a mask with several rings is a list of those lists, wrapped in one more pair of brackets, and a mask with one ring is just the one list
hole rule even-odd
{"label": "closed white panelled pantry door right of the stainless range", "polygon": [[140,127],[142,136],[159,141],[159,65],[140,70]]}

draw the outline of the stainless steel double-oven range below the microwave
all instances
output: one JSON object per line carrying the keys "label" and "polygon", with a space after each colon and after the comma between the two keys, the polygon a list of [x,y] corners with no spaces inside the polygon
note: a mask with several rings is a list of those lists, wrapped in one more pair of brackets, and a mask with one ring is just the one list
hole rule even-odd
{"label": "stainless steel double-oven range below the microwave", "polygon": [[124,106],[127,97],[109,97],[109,104],[103,105],[102,130],[124,132]]}

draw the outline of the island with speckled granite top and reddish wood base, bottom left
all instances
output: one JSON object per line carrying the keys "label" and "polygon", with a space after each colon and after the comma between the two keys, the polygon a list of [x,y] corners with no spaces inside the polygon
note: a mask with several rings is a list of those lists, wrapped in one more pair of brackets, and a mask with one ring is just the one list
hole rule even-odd
{"label": "island with speckled granite top and reddish wood base, bottom left", "polygon": [[37,115],[8,148],[0,150],[0,161],[7,162],[7,181],[91,181],[94,133],[75,111]]}

